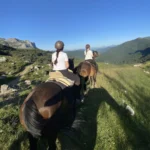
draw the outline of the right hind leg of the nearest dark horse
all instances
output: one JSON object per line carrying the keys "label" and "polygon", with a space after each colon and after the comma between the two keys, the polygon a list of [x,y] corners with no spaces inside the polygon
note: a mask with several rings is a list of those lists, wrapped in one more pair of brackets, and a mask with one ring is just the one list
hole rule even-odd
{"label": "right hind leg of the nearest dark horse", "polygon": [[48,150],[56,150],[56,139],[57,139],[57,132],[53,132],[50,137],[48,138]]}

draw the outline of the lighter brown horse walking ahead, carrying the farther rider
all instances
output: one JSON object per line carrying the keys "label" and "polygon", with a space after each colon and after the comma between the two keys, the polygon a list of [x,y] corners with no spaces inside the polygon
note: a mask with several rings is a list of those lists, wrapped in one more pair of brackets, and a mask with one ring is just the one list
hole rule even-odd
{"label": "lighter brown horse walking ahead, carrying the farther rider", "polygon": [[93,51],[93,60],[85,60],[81,62],[77,67],[74,69],[74,73],[77,73],[81,79],[81,92],[84,95],[85,90],[85,80],[90,82],[91,87],[96,87],[96,76],[98,72],[98,66],[95,62],[95,58],[98,57],[99,54],[97,51]]}

